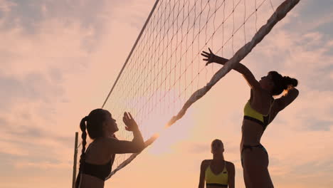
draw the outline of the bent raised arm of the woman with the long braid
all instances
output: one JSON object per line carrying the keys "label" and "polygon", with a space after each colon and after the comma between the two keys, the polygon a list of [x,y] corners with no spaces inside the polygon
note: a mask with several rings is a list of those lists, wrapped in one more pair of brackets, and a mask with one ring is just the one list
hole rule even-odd
{"label": "bent raised arm of the woman with the long braid", "polygon": [[133,140],[117,140],[117,138],[110,138],[107,142],[107,149],[111,153],[121,154],[121,153],[137,153],[144,149],[144,140],[137,126],[137,122],[133,119],[130,113],[124,113],[122,120],[125,122],[125,129],[133,132]]}

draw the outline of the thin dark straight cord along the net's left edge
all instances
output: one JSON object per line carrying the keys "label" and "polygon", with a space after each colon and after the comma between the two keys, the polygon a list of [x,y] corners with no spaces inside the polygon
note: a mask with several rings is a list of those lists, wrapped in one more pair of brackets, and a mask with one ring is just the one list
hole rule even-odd
{"label": "thin dark straight cord along the net's left edge", "polygon": [[122,71],[124,71],[125,66],[127,65],[127,62],[129,61],[129,58],[131,58],[132,53],[133,53],[135,47],[137,46],[137,43],[139,42],[139,40],[140,40],[140,38],[142,36],[142,33],[144,32],[144,29],[146,28],[147,23],[149,22],[150,18],[152,17],[152,14],[154,13],[154,10],[155,10],[155,8],[156,8],[156,6],[157,6],[158,3],[159,3],[159,0],[156,0],[154,6],[152,7],[152,11],[150,11],[150,14],[149,14],[148,18],[147,18],[146,22],[144,23],[144,26],[142,27],[142,29],[141,29],[141,31],[139,33],[139,36],[137,36],[137,40],[135,41],[135,43],[134,43],[134,45],[132,47],[132,50],[129,52],[129,54],[128,54],[127,58],[126,58],[124,66],[122,66],[122,70],[120,71],[119,75],[117,76],[117,79],[115,80],[115,83],[112,85],[112,88],[111,88],[109,94],[107,94],[107,98],[105,99],[105,101],[104,101],[104,103],[102,105],[102,108],[104,108],[104,105],[107,102],[107,99],[109,99],[109,97],[110,97],[110,95],[112,93],[113,88],[115,88],[115,85],[117,84],[117,82],[118,82],[118,80],[120,78],[120,75],[122,75]]}

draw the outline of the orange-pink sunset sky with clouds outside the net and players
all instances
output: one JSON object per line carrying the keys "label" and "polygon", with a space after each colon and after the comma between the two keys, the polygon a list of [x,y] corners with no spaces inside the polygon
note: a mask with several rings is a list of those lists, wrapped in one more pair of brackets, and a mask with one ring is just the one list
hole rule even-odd
{"label": "orange-pink sunset sky with clouds outside the net and players", "polygon": [[[79,122],[104,102],[153,4],[0,0],[1,188],[71,186]],[[258,79],[276,70],[299,80],[299,97],[261,140],[275,187],[333,184],[332,9],[332,0],[301,0],[242,61]],[[197,187],[215,138],[244,187],[238,148],[248,97],[231,71],[105,187]]]}

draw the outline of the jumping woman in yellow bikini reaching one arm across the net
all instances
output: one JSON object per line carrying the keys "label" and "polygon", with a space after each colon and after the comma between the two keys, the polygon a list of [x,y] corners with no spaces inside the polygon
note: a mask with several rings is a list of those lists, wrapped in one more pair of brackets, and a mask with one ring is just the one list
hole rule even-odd
{"label": "jumping woman in yellow bikini reaching one arm across the net", "polygon": [[[209,49],[209,48],[208,48]],[[209,53],[201,53],[203,61],[224,65],[228,59]],[[281,110],[297,98],[297,80],[270,71],[259,81],[242,63],[237,63],[233,70],[241,73],[250,86],[250,99],[244,107],[242,140],[240,141],[240,157],[243,166],[243,177],[247,188],[273,187],[268,172],[268,152],[260,144],[263,132]],[[274,99],[273,96],[282,97]]]}

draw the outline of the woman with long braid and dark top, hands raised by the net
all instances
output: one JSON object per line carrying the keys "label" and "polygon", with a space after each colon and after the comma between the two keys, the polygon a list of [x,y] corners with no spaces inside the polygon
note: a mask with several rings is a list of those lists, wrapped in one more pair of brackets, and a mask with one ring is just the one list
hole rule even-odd
{"label": "woman with long braid and dark top, hands raised by the net", "polygon": [[[114,133],[118,131],[117,123],[112,115],[103,109],[91,111],[80,122],[82,130],[82,154],[80,168],[75,187],[104,187],[105,178],[110,174],[115,154],[137,153],[144,149],[141,132],[130,113],[122,117],[128,131],[132,131],[132,141],[117,140]],[[93,140],[85,150],[87,133]]]}

